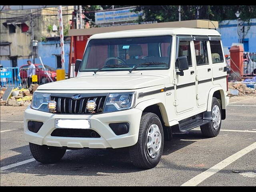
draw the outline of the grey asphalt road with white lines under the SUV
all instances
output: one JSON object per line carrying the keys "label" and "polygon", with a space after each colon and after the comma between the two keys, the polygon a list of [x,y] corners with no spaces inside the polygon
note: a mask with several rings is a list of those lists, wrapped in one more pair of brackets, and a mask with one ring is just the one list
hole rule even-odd
{"label": "grey asphalt road with white lines under the SUV", "polygon": [[215,138],[198,128],[174,135],[150,170],[135,168],[126,148],[70,150],[59,163],[41,164],[22,121],[22,112],[1,112],[1,186],[256,186],[256,98],[231,103]]}

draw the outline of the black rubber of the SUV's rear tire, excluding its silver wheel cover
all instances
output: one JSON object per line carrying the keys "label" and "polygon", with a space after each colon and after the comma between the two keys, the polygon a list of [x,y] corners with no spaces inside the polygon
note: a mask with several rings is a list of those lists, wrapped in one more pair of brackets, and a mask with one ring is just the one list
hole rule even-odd
{"label": "black rubber of the SUV's rear tire, excluding its silver wheel cover", "polygon": [[[220,106],[220,100],[218,100],[216,97],[212,98],[212,110],[214,106],[217,105],[219,110],[220,110],[220,124],[216,129],[214,129],[213,122],[210,122],[208,124],[200,126],[201,132],[203,136],[211,138],[211,137],[216,137],[219,132],[220,132],[220,127],[221,127],[221,106]],[[211,111],[212,113],[212,111]]]}

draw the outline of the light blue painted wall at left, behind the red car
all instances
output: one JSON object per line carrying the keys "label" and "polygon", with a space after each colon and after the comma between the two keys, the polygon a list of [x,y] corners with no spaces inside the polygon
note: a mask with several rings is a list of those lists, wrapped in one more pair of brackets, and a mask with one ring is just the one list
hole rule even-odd
{"label": "light blue painted wall at left, behind the red car", "polygon": [[[65,53],[65,71],[68,73],[68,62],[69,62],[69,53],[70,53],[70,41],[64,42],[64,53]],[[38,58],[35,58],[35,63],[40,64],[39,56],[42,59],[42,62],[52,68],[57,68],[57,60],[55,55],[60,55],[60,41],[47,41],[47,42],[38,42]],[[27,64],[29,59],[18,59],[18,68],[20,66]],[[12,67],[11,60],[1,60],[1,65],[4,67]]]}

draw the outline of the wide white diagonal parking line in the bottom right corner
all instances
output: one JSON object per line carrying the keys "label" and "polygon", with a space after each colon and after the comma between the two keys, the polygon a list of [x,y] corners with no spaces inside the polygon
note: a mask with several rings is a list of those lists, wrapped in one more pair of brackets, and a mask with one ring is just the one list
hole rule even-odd
{"label": "wide white diagonal parking line in the bottom right corner", "polygon": [[219,172],[232,162],[238,160],[240,157],[244,156],[245,154],[251,152],[252,150],[256,149],[256,142],[249,145],[248,147],[236,152],[232,156],[222,160],[218,164],[214,165],[210,169],[198,174],[197,176],[193,177],[192,179],[188,180],[186,183],[182,184],[181,186],[197,186],[202,181],[206,180],[208,177],[212,176],[213,174]]}

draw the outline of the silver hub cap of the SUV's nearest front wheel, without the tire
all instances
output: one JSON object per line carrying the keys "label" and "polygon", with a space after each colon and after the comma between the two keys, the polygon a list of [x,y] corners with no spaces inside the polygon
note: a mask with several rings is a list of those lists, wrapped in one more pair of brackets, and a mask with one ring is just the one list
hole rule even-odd
{"label": "silver hub cap of the SUV's nearest front wheel, without the tire", "polygon": [[158,125],[152,124],[148,129],[146,146],[148,155],[156,158],[161,148],[161,134]]}

